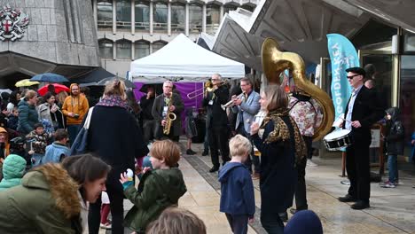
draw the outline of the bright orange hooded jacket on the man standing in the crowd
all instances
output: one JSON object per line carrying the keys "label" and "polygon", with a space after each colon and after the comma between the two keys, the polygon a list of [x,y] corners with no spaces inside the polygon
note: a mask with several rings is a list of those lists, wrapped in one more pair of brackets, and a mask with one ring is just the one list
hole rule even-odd
{"label": "bright orange hooded jacket on the man standing in the crowd", "polygon": [[[72,90],[72,86],[78,86],[77,83],[72,83],[69,90]],[[65,98],[64,104],[62,105],[62,112],[67,116],[67,125],[78,125],[82,123],[83,116],[88,113],[90,105],[88,104],[87,98],[81,95],[81,92],[77,96],[73,96],[72,93],[70,96]],[[78,118],[70,117],[68,113],[77,113],[79,114]]]}

